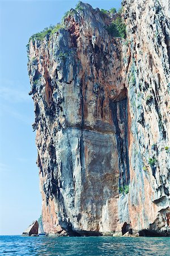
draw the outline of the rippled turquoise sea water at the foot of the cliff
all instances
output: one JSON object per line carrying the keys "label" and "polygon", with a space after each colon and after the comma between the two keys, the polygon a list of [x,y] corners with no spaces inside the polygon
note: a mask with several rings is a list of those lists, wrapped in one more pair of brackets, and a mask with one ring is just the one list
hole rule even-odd
{"label": "rippled turquoise sea water at the foot of the cliff", "polygon": [[170,237],[0,236],[0,255],[170,255]]}

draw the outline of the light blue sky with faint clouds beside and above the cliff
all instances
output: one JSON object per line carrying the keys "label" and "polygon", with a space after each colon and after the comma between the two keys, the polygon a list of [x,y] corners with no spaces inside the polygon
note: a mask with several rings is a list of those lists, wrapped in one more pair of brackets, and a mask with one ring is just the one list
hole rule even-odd
{"label": "light blue sky with faint clouds beside and above the cliff", "polygon": [[[41,214],[25,46],[77,2],[0,0],[0,235],[22,234]],[[121,0],[82,2],[107,10],[121,7]]]}

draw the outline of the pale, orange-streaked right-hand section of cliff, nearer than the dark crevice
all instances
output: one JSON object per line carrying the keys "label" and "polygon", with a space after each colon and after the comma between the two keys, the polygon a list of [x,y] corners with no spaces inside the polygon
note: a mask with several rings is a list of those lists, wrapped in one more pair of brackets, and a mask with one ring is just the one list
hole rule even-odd
{"label": "pale, orange-streaked right-hand section of cliff, nearer than the dark crevice", "polygon": [[126,72],[131,120],[129,217],[134,230],[165,233],[169,230],[170,179],[167,2],[123,2],[130,41]]}

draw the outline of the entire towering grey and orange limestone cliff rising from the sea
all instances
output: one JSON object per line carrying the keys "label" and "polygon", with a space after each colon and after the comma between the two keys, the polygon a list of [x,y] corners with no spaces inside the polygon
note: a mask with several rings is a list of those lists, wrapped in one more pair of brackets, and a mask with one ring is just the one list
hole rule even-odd
{"label": "entire towering grey and orange limestone cliff rising from the sea", "polygon": [[170,234],[169,6],[122,5],[126,39],[79,3],[29,42],[45,233]]}

